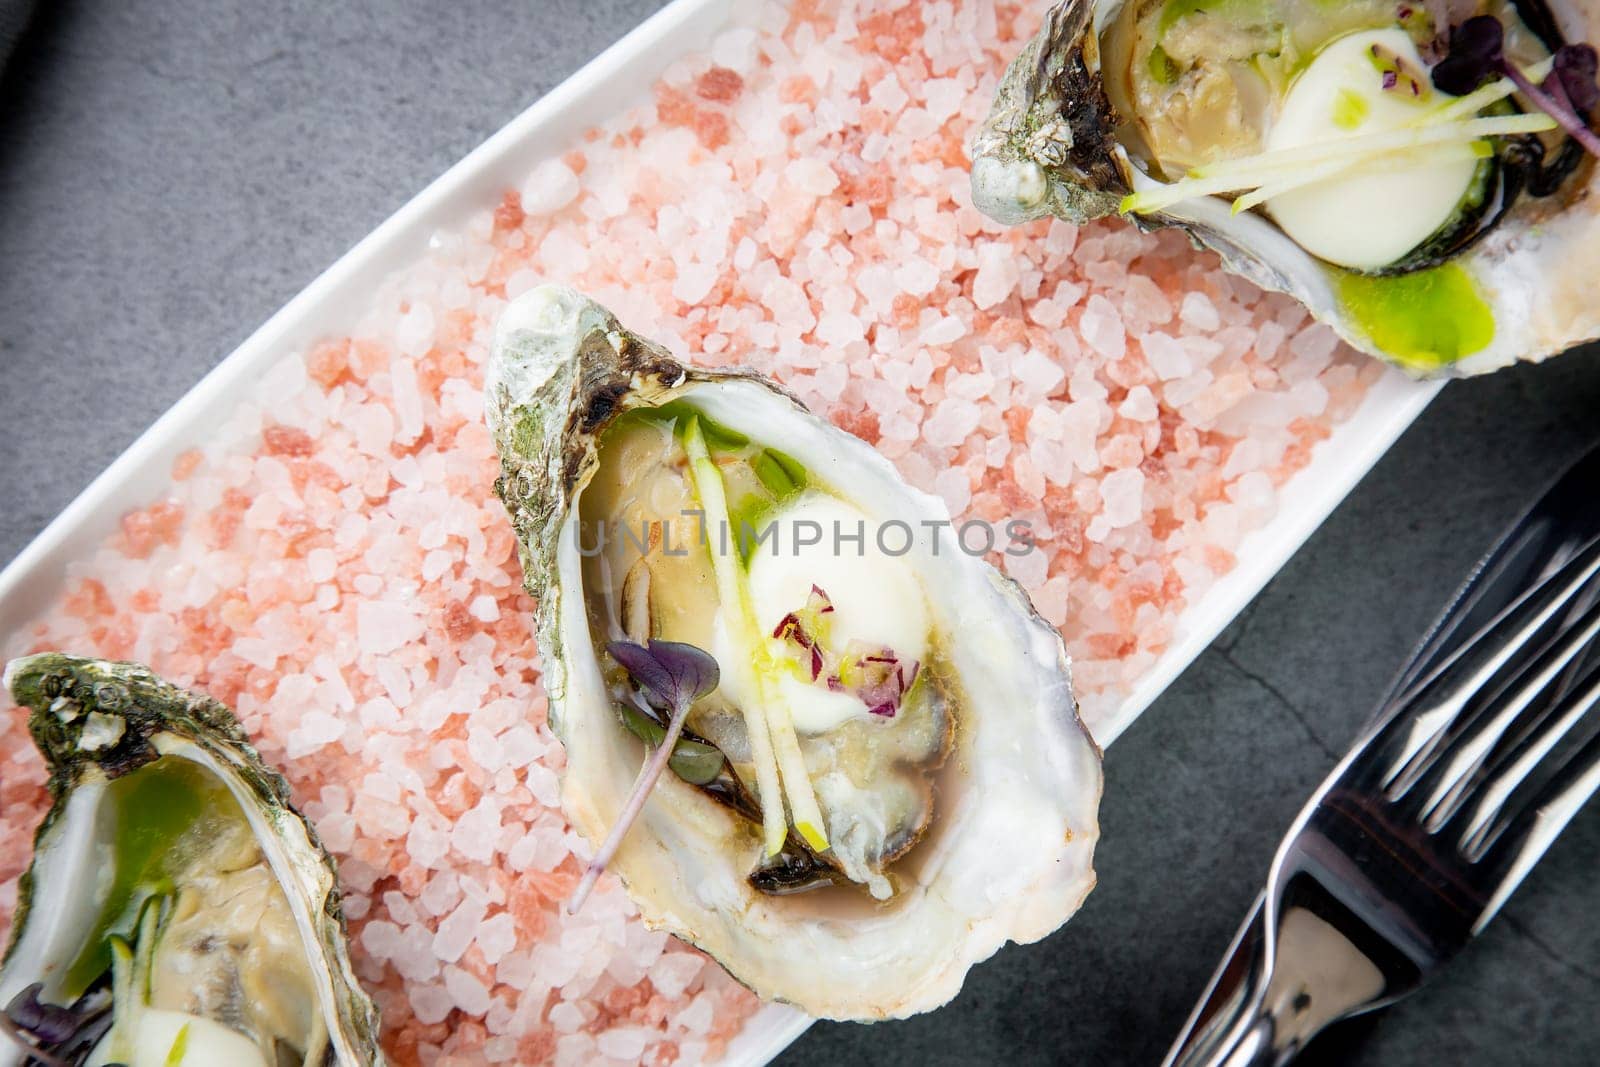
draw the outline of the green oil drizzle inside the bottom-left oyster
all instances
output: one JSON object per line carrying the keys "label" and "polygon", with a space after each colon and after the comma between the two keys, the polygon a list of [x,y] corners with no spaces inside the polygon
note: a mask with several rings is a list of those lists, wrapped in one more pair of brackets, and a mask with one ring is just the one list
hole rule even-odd
{"label": "green oil drizzle inside the bottom-left oyster", "polygon": [[110,843],[110,885],[99,920],[67,968],[62,985],[69,997],[82,995],[110,969],[110,936],[134,941],[144,902],[173,893],[197,851],[224,821],[242,819],[243,813],[214,774],[189,760],[163,757],[106,785],[96,817],[101,840]]}

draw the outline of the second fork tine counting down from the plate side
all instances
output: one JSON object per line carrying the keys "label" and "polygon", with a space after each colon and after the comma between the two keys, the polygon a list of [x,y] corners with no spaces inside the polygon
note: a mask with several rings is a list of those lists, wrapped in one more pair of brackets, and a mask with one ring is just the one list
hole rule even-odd
{"label": "second fork tine counting down from the plate side", "polygon": [[1600,637],[1600,606],[1590,606],[1570,630],[1554,640],[1549,649],[1499,686],[1499,691],[1470,701],[1472,710],[1464,709],[1459,720],[1451,725],[1448,747],[1440,750],[1427,774],[1434,790],[1422,805],[1424,827],[1437,830],[1448,822],[1474,784],[1490,774],[1494,763],[1502,761],[1506,750],[1520,747],[1522,736],[1536,731],[1542,725],[1541,720],[1549,721],[1549,712],[1562,704],[1562,697],[1574,681],[1573,669],[1582,665],[1597,637]]}

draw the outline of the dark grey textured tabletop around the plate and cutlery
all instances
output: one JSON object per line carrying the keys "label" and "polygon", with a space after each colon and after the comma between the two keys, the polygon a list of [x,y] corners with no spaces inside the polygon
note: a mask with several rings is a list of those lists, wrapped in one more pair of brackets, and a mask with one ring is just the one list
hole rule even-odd
{"label": "dark grey textured tabletop around the plate and cutlery", "polygon": [[[658,6],[46,0],[0,83],[0,558],[251,330]],[[794,1064],[1154,1064],[1304,793],[1494,533],[1600,438],[1600,360],[1450,386],[1110,750],[1101,885],[942,1011]],[[1600,1059],[1600,806],[1354,1064]]]}

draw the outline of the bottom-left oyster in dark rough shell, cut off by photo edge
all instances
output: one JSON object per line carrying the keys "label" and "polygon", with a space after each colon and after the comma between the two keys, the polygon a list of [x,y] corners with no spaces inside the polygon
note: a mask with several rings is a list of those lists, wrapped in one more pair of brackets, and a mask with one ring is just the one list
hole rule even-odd
{"label": "bottom-left oyster in dark rough shell, cut off by photo edge", "polygon": [[[34,841],[0,1065],[382,1064],[333,857],[224,705],[144,667],[16,659],[54,805]],[[37,1054],[35,1054],[37,1053]]]}

